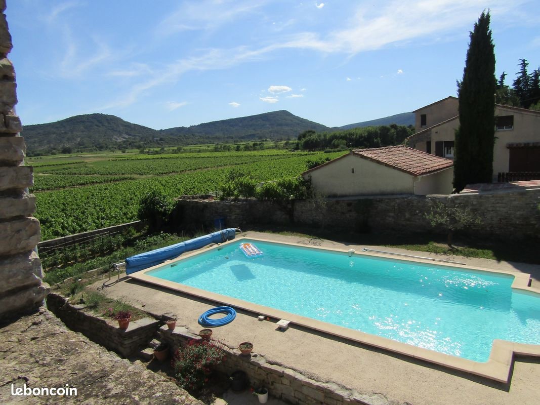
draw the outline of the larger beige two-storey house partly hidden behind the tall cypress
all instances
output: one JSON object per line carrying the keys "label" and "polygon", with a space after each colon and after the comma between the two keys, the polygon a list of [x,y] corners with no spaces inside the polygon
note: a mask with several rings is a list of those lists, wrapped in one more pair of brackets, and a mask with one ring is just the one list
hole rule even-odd
{"label": "larger beige two-storey house partly hidden behind the tall cypress", "polygon": [[[454,159],[455,131],[460,126],[457,98],[444,98],[414,113],[416,132],[407,138],[407,145]],[[495,104],[495,118],[493,180],[540,179],[540,111]]]}

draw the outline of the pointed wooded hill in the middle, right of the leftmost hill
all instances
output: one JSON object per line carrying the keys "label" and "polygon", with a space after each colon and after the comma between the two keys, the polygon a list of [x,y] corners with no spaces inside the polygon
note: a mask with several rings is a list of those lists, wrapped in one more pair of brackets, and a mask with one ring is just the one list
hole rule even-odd
{"label": "pointed wooded hill in the middle, right of the leftmost hill", "polygon": [[328,131],[329,127],[300,118],[288,111],[273,111],[254,116],[224,119],[210,123],[180,126],[161,132],[174,136],[203,136],[205,139],[283,139],[296,138],[307,130]]}

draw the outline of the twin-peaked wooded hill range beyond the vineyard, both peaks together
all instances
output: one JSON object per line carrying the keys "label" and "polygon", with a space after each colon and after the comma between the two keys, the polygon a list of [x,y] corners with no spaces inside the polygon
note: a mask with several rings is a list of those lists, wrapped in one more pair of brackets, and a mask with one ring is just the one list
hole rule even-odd
{"label": "twin-peaked wooded hill range beyond the vineyard, both peaks together", "polygon": [[274,111],[249,117],[232,118],[190,127],[165,130],[132,124],[108,114],[86,114],[55,123],[23,127],[28,156],[105,149],[141,149],[210,142],[259,139],[295,139],[306,130],[327,131],[317,124],[291,114]]}

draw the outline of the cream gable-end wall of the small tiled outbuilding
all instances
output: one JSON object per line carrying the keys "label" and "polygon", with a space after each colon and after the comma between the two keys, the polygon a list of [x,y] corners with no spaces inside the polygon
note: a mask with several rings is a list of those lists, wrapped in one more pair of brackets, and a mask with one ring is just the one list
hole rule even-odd
{"label": "cream gable-end wall of the small tiled outbuilding", "polygon": [[324,195],[413,194],[413,176],[352,153],[304,174],[310,175]]}

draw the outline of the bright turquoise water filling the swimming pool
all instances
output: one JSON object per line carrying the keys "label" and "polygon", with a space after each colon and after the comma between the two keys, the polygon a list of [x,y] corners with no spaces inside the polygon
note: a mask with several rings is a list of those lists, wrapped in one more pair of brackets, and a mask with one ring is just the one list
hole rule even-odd
{"label": "bright turquoise water filling the swimming pool", "polygon": [[540,345],[540,298],[510,275],[245,239],[147,274],[479,362],[494,339]]}

